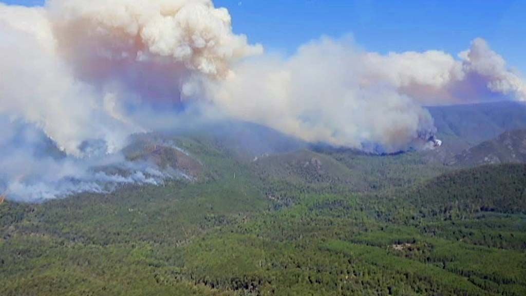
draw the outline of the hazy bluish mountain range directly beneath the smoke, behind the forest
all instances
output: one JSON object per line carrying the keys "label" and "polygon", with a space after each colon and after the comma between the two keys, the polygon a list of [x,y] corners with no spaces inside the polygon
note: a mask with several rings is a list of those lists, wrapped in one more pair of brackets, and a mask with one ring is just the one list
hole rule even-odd
{"label": "hazy bluish mountain range directly beneath the smoke, behind the forest", "polygon": [[[192,179],[210,175],[209,168],[203,167],[194,155],[185,154],[185,150],[176,146],[181,144],[181,139],[186,139],[201,143],[203,149],[223,151],[224,156],[247,163],[261,177],[280,184],[309,184],[317,190],[341,186],[356,191],[402,186],[409,180],[429,179],[453,169],[443,164],[463,167],[526,161],[525,104],[438,106],[430,107],[429,111],[438,129],[437,138],[443,140],[443,145],[431,151],[391,157],[321,143],[308,144],[246,122],[137,135],[124,153],[129,160],[153,161],[163,169],[170,167]],[[196,144],[193,145],[195,148]],[[274,189],[269,191],[276,194]]]}

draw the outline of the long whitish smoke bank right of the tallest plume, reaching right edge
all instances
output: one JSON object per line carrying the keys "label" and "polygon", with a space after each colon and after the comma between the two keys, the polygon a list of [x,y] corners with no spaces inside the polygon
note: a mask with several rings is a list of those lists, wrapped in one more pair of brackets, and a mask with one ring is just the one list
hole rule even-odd
{"label": "long whitish smoke bank right of the tallest plume, reaching right edge", "polygon": [[396,152],[421,147],[434,134],[422,105],[525,99],[523,80],[483,40],[461,57],[381,55],[348,39],[321,38],[288,58],[241,63],[211,84],[207,97],[230,116],[307,141]]}

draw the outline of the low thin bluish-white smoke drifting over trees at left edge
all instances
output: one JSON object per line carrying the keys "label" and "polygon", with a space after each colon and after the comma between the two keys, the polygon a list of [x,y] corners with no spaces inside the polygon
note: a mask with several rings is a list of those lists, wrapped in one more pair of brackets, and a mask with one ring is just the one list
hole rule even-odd
{"label": "low thin bluish-white smoke drifting over trees at left edge", "polygon": [[[104,142],[86,141],[82,159],[65,155],[41,129],[0,119],[0,193],[35,202],[79,192],[109,192],[121,184],[162,184],[181,177],[154,164],[131,163],[120,153],[106,154]],[[184,177],[184,176],[183,176]]]}

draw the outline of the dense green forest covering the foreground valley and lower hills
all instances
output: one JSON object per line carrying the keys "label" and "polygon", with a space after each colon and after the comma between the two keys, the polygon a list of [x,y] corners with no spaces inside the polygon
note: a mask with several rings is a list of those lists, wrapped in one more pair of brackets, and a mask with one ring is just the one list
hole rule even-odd
{"label": "dense green forest covering the foreground valley and lower hills", "polygon": [[171,141],[195,180],[0,204],[0,294],[526,294],[524,164]]}

